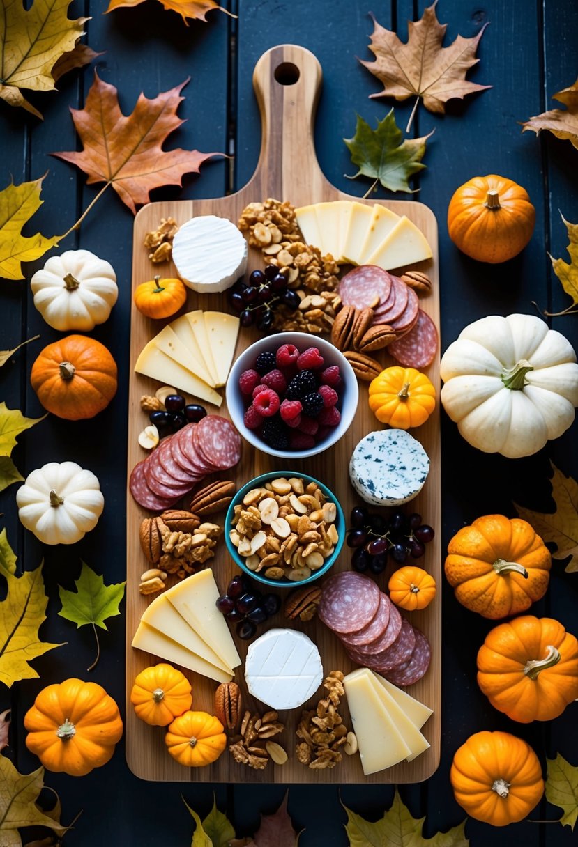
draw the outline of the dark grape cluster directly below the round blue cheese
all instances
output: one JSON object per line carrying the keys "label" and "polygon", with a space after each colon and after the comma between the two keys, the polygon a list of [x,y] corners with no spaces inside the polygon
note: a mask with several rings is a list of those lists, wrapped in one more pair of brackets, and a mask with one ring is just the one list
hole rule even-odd
{"label": "dark grape cluster directly below the round blue cheese", "polygon": [[347,546],[354,551],[353,570],[383,573],[387,556],[399,565],[403,565],[408,556],[420,559],[425,553],[425,545],[434,535],[431,526],[421,523],[421,515],[417,512],[404,515],[396,510],[386,518],[370,514],[364,507],[355,507],[351,512],[351,529],[347,532]]}

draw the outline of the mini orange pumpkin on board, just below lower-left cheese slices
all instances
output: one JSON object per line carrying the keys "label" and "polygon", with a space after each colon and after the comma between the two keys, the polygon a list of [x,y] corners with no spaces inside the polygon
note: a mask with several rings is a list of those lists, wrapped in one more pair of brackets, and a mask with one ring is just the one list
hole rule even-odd
{"label": "mini orange pumpkin on board, just below lower-left cheese slices", "polygon": [[136,717],[149,726],[166,727],[191,708],[191,683],[176,667],[160,662],[136,676],[131,703]]}

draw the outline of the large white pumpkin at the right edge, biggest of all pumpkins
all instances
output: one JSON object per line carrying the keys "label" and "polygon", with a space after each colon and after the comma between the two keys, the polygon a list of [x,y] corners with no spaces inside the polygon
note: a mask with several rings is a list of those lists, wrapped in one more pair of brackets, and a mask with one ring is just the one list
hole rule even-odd
{"label": "large white pumpkin at the right edge, biggest of all pumpkins", "polygon": [[470,324],[442,356],[440,374],[447,414],[486,453],[531,456],[575,417],[574,349],[534,315],[490,315]]}

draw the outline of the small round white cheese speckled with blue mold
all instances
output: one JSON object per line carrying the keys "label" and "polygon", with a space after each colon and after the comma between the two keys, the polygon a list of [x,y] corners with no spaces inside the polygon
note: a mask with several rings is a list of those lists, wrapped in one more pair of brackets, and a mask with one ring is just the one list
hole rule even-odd
{"label": "small round white cheese speckled with blue mold", "polygon": [[353,451],[349,479],[373,506],[401,506],[413,500],[430,472],[430,457],[404,429],[370,432]]}

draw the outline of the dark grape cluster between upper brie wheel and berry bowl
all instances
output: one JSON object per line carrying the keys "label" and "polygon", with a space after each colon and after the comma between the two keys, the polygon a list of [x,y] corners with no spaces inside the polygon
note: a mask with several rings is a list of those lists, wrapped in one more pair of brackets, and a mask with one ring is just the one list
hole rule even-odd
{"label": "dark grape cluster between upper brie wheel and berry bowl", "polygon": [[273,324],[273,310],[282,303],[290,309],[299,307],[299,295],[287,285],[287,278],[275,265],[253,270],[248,282],[238,280],[231,288],[231,306],[242,326],[253,326],[267,332]]}

